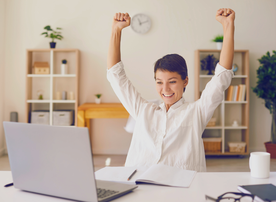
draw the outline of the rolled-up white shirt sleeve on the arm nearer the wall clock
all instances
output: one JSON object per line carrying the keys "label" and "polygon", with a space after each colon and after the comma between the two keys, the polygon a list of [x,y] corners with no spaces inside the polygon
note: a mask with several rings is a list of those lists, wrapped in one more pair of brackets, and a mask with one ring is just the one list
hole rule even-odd
{"label": "rolled-up white shirt sleeve on the arm nearer the wall clock", "polygon": [[107,69],[107,80],[126,110],[136,120],[141,105],[147,100],[141,97],[141,94],[130,82],[122,61]]}

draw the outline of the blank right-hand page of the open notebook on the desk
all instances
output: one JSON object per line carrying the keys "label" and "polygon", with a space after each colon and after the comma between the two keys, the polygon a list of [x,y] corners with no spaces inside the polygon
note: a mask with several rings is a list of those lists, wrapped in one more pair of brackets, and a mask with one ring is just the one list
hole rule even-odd
{"label": "blank right-hand page of the open notebook on the desk", "polygon": [[137,181],[167,186],[189,187],[195,174],[196,171],[155,164],[149,167],[142,176],[137,178]]}

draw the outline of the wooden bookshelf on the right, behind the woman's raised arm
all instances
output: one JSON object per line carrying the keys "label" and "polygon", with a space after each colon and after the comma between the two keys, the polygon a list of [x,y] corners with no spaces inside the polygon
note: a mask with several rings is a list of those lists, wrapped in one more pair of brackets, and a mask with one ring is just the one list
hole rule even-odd
{"label": "wooden bookshelf on the right, behind the woman's raised arm", "polygon": [[[194,61],[194,80],[195,80],[195,100],[200,98],[206,84],[212,79],[213,75],[201,70],[200,60],[209,54],[213,54],[217,59],[220,58],[221,50],[196,50]],[[213,117],[217,116],[216,126],[206,127],[202,137],[221,137],[221,153],[205,153],[205,155],[247,155],[249,154],[249,51],[235,50],[233,63],[238,65],[238,71],[232,78],[230,85],[246,85],[245,101],[226,101],[227,90],[223,92],[224,99],[217,107]],[[232,127],[233,120],[237,120],[239,126]],[[230,153],[227,142],[246,142],[245,153]]]}

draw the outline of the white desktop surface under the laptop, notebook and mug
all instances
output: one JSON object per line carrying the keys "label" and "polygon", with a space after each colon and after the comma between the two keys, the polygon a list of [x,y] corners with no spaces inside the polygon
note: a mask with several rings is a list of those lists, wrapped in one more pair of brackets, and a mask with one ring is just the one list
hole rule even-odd
{"label": "white desktop surface under the laptop, notebook and mug", "polygon": [[[20,191],[14,186],[4,187],[12,182],[11,171],[0,171],[0,201],[2,202],[61,202],[70,200]],[[238,185],[274,184],[276,172],[270,172],[270,178],[256,179],[249,172],[197,173],[189,188],[177,188],[159,185],[139,184],[132,193],[113,200],[119,201],[206,201],[205,194],[217,197],[225,192],[239,192]]]}

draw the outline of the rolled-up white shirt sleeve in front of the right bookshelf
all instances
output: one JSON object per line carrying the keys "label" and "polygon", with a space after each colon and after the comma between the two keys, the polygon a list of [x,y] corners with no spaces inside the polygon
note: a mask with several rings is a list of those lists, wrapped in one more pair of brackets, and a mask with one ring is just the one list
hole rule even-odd
{"label": "rolled-up white shirt sleeve in front of the right bookshelf", "polygon": [[215,68],[215,75],[212,77],[202,91],[201,97],[197,102],[199,102],[201,111],[201,121],[204,127],[212,118],[215,109],[223,100],[223,91],[225,91],[232,78],[234,78],[233,70],[227,70],[222,67],[219,63]]}

